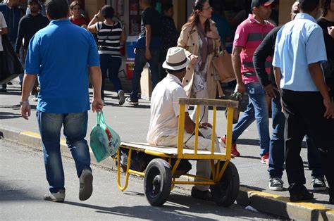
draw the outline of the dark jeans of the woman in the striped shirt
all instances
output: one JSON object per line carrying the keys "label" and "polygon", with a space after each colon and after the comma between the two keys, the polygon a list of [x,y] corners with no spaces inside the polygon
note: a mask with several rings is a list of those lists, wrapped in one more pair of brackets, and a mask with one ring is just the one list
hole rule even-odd
{"label": "dark jeans of the woman in the striped shirt", "polygon": [[109,80],[113,83],[116,92],[122,89],[122,84],[120,84],[120,79],[118,78],[118,71],[120,70],[120,65],[122,64],[122,58],[113,57],[109,54],[100,54],[100,65],[102,72],[102,85],[101,85],[101,98],[104,99],[104,84],[106,79],[106,72],[108,71]]}

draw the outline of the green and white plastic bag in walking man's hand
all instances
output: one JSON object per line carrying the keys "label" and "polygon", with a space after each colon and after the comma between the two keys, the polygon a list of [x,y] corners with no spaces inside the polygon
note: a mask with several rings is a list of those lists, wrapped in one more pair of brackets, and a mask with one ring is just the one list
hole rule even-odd
{"label": "green and white plastic bag in walking man's hand", "polygon": [[97,162],[114,156],[120,147],[120,136],[106,124],[104,113],[97,113],[97,125],[90,132],[90,147]]}

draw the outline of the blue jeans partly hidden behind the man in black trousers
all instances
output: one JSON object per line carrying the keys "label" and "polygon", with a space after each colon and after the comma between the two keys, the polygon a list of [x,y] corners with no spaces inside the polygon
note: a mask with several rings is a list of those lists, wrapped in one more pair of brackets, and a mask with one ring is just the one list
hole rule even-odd
{"label": "blue jeans partly hidden behind the man in black trousers", "polygon": [[[276,91],[276,98],[271,99],[271,116],[273,119],[273,134],[269,146],[269,176],[271,178],[281,178],[283,175],[285,149],[284,149],[284,127],[285,116],[281,112],[280,94]],[[309,136],[305,136],[307,141],[307,160],[312,177],[323,177],[321,156]]]}

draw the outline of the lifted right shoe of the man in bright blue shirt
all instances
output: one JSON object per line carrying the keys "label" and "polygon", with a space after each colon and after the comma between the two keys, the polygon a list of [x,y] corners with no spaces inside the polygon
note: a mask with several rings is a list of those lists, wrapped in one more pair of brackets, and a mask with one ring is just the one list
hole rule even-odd
{"label": "lifted right shoe of the man in bright blue shirt", "polygon": [[79,199],[80,201],[87,200],[92,196],[93,192],[93,175],[88,169],[84,169],[79,177],[80,189],[79,189]]}

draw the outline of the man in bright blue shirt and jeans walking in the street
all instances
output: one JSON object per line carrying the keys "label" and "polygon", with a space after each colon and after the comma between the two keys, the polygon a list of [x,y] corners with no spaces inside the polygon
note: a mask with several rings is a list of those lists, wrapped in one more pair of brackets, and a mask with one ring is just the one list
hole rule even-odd
{"label": "man in bright blue shirt and jeans walking in the street", "polygon": [[[68,20],[66,0],[47,0],[51,23],[30,40],[21,96],[21,115],[28,119],[28,97],[36,77],[40,85],[37,121],[42,137],[44,164],[50,193],[44,200],[63,202],[64,173],[60,152],[60,133],[75,160],[80,181],[79,198],[92,195],[92,169],[85,136],[89,110],[89,72],[93,85],[92,110],[103,108],[99,54],[92,34]],[[61,42],[61,44],[59,44]]]}

